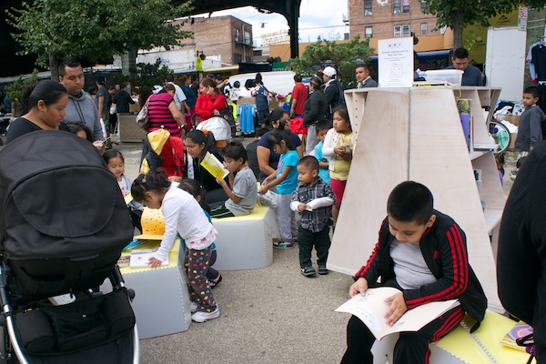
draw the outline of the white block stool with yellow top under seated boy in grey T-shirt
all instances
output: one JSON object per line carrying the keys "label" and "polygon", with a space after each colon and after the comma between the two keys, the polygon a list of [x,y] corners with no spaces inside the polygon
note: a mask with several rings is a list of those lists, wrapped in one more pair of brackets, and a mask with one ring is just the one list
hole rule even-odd
{"label": "white block stool with yellow top under seated boy in grey T-shirt", "polygon": [[273,238],[278,238],[275,210],[255,207],[250,215],[213,218],[217,270],[266,268],[273,262]]}

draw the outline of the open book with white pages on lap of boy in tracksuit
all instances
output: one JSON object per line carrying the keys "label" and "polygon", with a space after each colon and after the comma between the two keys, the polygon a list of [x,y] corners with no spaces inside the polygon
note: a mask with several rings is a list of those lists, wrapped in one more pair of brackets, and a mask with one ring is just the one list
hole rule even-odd
{"label": "open book with white pages on lap of boy in tracksuit", "polygon": [[389,326],[387,319],[385,319],[389,303],[385,302],[385,298],[399,292],[399,289],[390,287],[369,288],[364,295],[350,298],[349,301],[336,308],[336,311],[349,312],[358,317],[368,326],[373,336],[380,340],[393,332],[418,331],[441,314],[459,306],[459,299],[430,302],[410,309],[393,326]]}

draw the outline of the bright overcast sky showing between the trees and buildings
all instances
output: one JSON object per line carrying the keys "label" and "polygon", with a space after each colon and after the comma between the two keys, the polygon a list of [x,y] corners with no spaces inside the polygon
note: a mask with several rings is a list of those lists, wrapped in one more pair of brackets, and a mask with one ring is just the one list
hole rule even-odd
{"label": "bright overcast sky showing between the trees and buildings", "polygon": [[[345,26],[342,20],[342,15],[348,15],[347,4],[347,0],[302,0],[299,8],[300,41],[314,42],[318,36],[322,39],[343,39],[343,34],[349,33],[349,26]],[[212,14],[212,16],[220,15],[232,15],[251,24],[255,45],[258,46],[261,45],[260,35],[288,30],[284,16],[262,14],[251,6]]]}

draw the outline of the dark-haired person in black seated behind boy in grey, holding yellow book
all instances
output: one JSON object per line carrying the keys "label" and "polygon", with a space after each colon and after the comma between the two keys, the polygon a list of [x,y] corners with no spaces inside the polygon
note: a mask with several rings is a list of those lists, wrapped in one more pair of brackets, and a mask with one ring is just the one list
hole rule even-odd
{"label": "dark-haired person in black seated behind boy in grey, holding yellow book", "polygon": [[224,188],[217,184],[216,177],[201,166],[201,161],[207,152],[217,157],[220,162],[224,161],[217,151],[214,135],[207,133],[207,131],[190,131],[186,136],[186,150],[189,157],[193,159],[194,178],[207,190],[208,202],[226,201],[228,197]]}

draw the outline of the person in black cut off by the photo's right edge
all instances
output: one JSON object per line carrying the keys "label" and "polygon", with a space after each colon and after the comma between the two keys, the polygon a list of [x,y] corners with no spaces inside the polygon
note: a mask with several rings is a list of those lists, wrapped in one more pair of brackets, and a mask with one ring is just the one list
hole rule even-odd
{"label": "person in black cut off by the photo's right edge", "polygon": [[497,278],[502,306],[534,329],[537,361],[546,362],[546,143],[518,171],[499,235]]}

